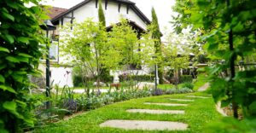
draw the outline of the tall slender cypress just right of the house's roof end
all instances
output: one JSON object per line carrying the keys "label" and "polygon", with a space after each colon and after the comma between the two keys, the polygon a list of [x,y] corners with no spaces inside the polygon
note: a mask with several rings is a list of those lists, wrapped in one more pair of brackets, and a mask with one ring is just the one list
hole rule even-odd
{"label": "tall slender cypress just right of the house's roof end", "polygon": [[[153,26],[153,29],[152,29],[152,38],[155,39],[155,42],[154,42],[154,48],[155,48],[155,54],[156,55],[162,55],[161,53],[161,32],[160,32],[160,27],[159,27],[159,23],[158,23],[158,19],[157,19],[157,15],[155,14],[155,10],[154,8],[152,8],[151,10],[152,12],[152,26]],[[158,64],[158,76],[160,78],[160,84],[163,84],[164,83],[164,80],[163,80],[163,71],[162,71],[162,65],[161,63]]]}

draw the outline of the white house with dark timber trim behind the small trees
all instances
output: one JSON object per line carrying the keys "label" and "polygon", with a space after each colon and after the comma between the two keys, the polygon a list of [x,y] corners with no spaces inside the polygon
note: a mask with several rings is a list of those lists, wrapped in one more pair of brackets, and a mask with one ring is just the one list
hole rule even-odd
{"label": "white house with dark timber trim behind the small trees", "polygon": [[[103,0],[102,7],[106,18],[107,30],[111,29],[111,24],[119,23],[120,16],[130,21],[130,25],[138,32],[143,32],[150,20],[137,8],[136,3],[129,0]],[[49,17],[51,22],[57,27],[54,31],[52,46],[49,50],[50,56],[50,75],[51,81],[60,86],[68,85],[73,87],[72,67],[61,66],[61,58],[58,49],[58,27],[66,23],[73,23],[74,20],[82,22],[87,18],[93,18],[98,21],[98,0],[84,0],[83,2],[73,6],[71,9],[61,9],[53,7],[49,9]],[[58,67],[55,67],[55,64]],[[44,65],[41,69],[45,70]],[[142,72],[143,74],[143,72]]]}

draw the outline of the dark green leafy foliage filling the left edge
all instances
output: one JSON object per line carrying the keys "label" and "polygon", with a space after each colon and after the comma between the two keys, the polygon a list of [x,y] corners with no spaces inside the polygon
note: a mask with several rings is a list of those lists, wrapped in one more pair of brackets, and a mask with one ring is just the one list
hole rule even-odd
{"label": "dark green leafy foliage filling the left edge", "polygon": [[[25,4],[34,3],[31,8]],[[39,20],[45,19],[38,0],[0,2],[0,132],[21,132],[34,125],[31,113],[38,101],[28,94],[28,74],[38,75],[43,49]]]}

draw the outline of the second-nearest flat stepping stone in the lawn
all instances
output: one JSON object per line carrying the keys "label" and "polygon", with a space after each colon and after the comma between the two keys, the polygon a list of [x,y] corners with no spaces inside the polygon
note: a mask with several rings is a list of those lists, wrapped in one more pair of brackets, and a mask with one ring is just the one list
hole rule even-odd
{"label": "second-nearest flat stepping stone in the lawn", "polygon": [[129,109],[128,113],[152,113],[152,114],[184,114],[183,110],[152,110],[152,109]]}

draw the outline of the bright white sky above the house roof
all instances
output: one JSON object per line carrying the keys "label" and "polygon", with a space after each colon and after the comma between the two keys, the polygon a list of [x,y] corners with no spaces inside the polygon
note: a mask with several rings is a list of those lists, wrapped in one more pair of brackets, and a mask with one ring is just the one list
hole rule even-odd
{"label": "bright white sky above the house roof", "polygon": [[[48,4],[54,7],[69,9],[74,5],[82,2],[83,0],[44,0],[44,4]],[[155,12],[158,16],[161,32],[172,31],[172,15],[175,13],[172,11],[172,6],[175,4],[175,0],[131,0],[136,3],[137,7],[141,9],[149,20],[151,20],[151,9],[154,6]]]}

